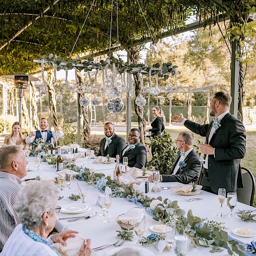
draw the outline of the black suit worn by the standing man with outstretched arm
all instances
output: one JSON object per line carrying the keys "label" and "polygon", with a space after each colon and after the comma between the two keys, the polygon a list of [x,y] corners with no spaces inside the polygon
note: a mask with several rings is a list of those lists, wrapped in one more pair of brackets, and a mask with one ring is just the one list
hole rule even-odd
{"label": "black suit worn by the standing man with outstretched arm", "polygon": [[206,144],[215,148],[215,156],[209,155],[208,158],[210,188],[215,193],[218,193],[219,188],[225,188],[228,193],[243,187],[240,160],[245,156],[245,127],[230,113],[220,123],[221,126],[212,135],[209,143],[212,122],[201,125],[186,120],[184,125],[192,132],[205,136]]}

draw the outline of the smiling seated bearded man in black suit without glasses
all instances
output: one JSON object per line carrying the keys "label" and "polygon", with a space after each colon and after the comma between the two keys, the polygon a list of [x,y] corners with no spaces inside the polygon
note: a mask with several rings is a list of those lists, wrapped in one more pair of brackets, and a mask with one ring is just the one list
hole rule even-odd
{"label": "smiling seated bearded man in black suit without glasses", "polygon": [[116,155],[121,155],[126,142],[124,138],[115,134],[113,123],[107,122],[104,124],[104,134],[106,137],[100,141],[99,152],[96,156],[105,157],[109,155],[110,157],[116,157]]}

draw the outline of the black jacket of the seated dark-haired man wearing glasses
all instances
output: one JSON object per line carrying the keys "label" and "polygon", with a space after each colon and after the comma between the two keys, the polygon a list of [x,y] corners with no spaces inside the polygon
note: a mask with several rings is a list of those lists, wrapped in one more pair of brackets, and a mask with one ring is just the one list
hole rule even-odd
{"label": "black jacket of the seated dark-haired man wearing glasses", "polygon": [[130,149],[124,152],[124,155],[121,153],[121,163],[123,161],[123,157],[127,157],[129,167],[137,167],[141,169],[143,166],[146,166],[146,156],[146,147],[139,143],[133,150]]}

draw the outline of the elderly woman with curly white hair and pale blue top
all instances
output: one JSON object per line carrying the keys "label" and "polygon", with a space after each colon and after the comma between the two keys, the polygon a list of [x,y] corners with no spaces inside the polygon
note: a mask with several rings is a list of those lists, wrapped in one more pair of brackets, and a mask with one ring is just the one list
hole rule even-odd
{"label": "elderly woman with curly white hair and pale blue top", "polygon": [[[66,245],[68,238],[74,238],[73,230],[52,234],[56,221],[58,188],[50,182],[34,181],[19,191],[14,210],[21,224],[16,226],[6,242],[1,255],[41,255],[56,256],[60,253],[53,243]],[[79,256],[91,255],[91,241],[83,243],[78,251]]]}

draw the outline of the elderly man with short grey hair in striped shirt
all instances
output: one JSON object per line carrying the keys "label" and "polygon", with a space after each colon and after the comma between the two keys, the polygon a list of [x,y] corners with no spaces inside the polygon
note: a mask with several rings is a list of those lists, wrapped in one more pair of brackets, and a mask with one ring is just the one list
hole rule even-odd
{"label": "elderly man with short grey hair in striped shirt", "polygon": [[3,249],[19,220],[13,204],[27,175],[27,161],[18,146],[0,148],[0,251]]}

